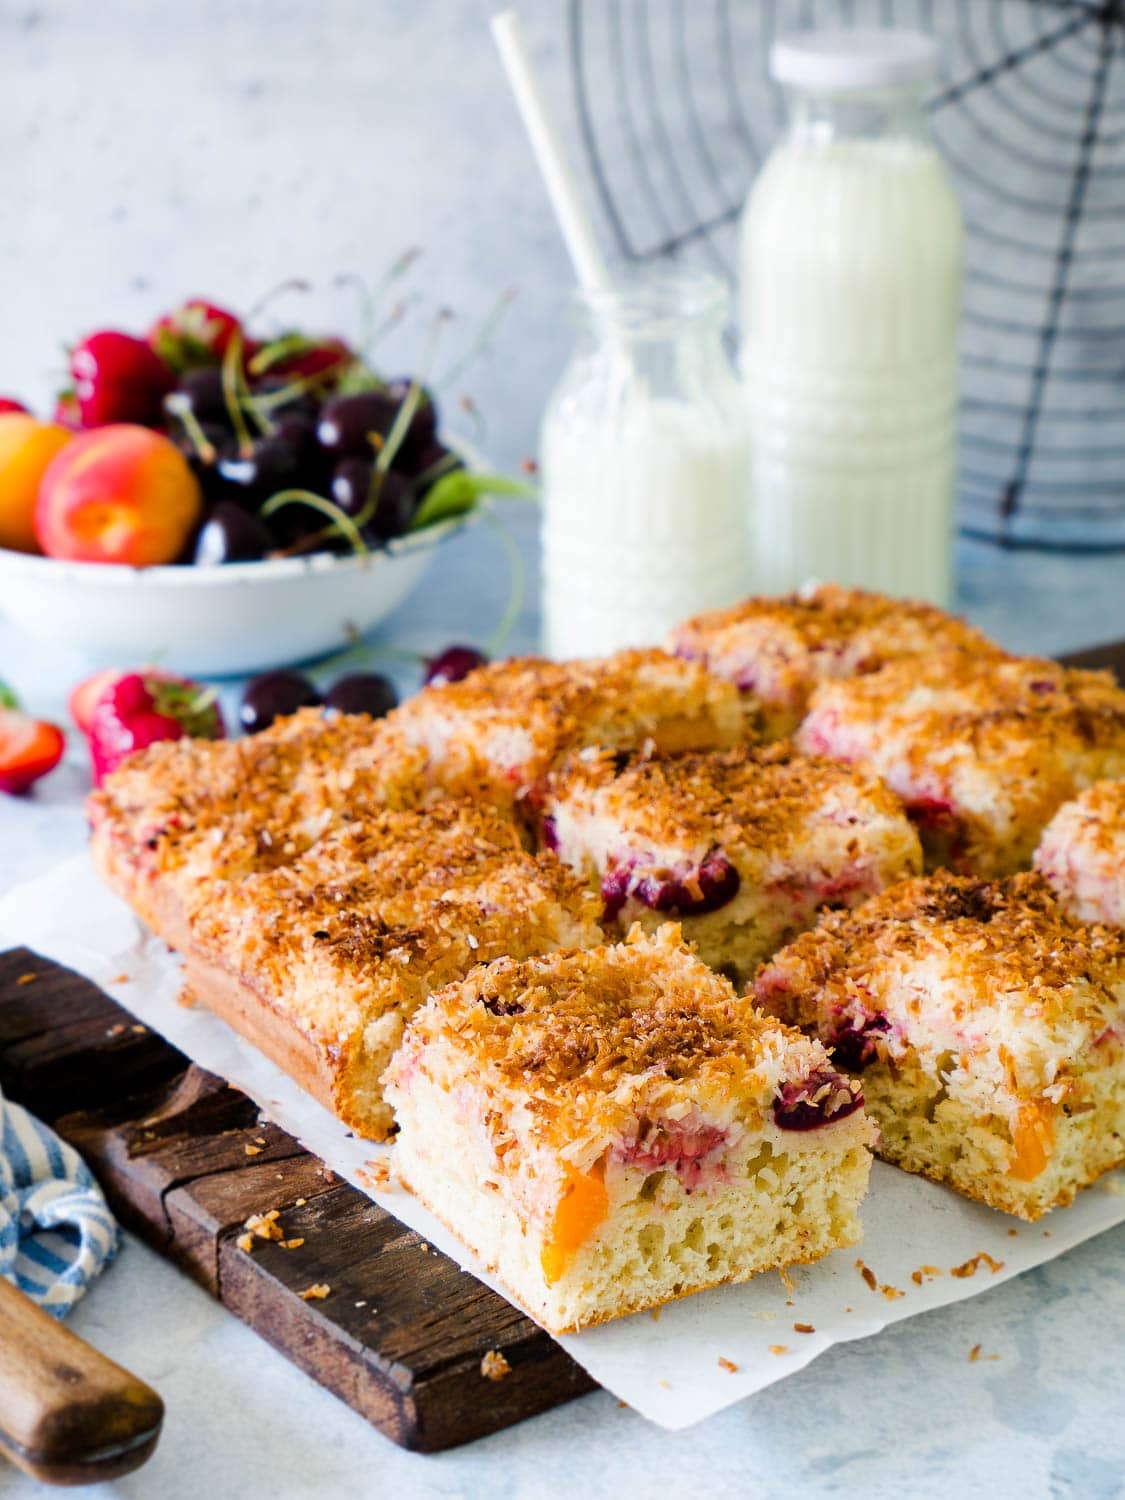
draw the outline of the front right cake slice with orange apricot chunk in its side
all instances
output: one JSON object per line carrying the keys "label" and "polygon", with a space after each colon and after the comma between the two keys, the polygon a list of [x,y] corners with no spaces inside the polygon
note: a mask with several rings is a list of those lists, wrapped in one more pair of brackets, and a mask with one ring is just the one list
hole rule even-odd
{"label": "front right cake slice with orange apricot chunk in its side", "polygon": [[754,996],[862,1078],[908,1172],[1036,1220],[1125,1162],[1125,933],[1038,874],[906,880],[783,948]]}

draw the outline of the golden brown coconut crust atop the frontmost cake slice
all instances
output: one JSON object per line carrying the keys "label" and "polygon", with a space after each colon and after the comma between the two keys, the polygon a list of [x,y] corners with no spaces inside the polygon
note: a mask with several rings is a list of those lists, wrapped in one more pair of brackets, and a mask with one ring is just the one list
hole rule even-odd
{"label": "golden brown coconut crust atop the frontmost cake slice", "polygon": [[700,1107],[712,1096],[729,1110],[740,1096],[772,1101],[825,1062],[666,924],[652,939],[634,930],[626,944],[474,969],[418,1011],[392,1074],[408,1088],[417,1065],[468,1070],[476,1089],[525,1110],[536,1138],[558,1146],[633,1118],[639,1089],[681,1096],[690,1086]]}

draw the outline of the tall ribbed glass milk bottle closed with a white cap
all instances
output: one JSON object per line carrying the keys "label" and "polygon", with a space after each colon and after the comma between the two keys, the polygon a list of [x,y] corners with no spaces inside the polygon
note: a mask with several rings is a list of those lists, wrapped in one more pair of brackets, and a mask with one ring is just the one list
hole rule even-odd
{"label": "tall ribbed glass milk bottle closed with a white cap", "polygon": [[962,214],[922,112],[934,42],[774,45],[789,128],[742,216],[754,584],[948,604]]}

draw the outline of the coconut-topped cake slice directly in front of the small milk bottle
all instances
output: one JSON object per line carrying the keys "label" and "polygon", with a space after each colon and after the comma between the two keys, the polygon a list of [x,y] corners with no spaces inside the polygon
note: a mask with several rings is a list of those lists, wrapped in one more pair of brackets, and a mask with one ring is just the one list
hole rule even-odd
{"label": "coconut-topped cake slice directly in front of the small milk bottle", "polygon": [[699,663],[620,651],[594,662],[496,662],[423,688],[388,723],[426,753],[430,782],[453,792],[484,783],[498,806],[534,820],[548,772],[573,750],[722,748],[744,732],[747,712],[732,684]]}

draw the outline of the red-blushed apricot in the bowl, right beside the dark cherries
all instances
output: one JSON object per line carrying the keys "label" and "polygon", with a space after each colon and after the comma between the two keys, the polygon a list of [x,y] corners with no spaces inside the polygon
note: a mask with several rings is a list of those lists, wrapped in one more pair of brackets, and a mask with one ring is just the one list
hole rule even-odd
{"label": "red-blushed apricot in the bowl, right beside the dark cherries", "polygon": [[202,514],[202,492],[180,450],[129,422],[82,432],[39,486],[39,546],[70,562],[174,562]]}

